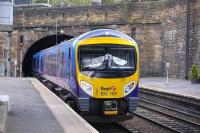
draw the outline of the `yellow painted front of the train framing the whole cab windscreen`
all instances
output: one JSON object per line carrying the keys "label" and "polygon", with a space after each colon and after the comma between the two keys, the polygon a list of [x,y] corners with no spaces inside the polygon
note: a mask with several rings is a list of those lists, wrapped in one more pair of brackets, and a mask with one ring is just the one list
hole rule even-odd
{"label": "yellow painted front of the train framing the whole cab windscreen", "polygon": [[[135,46],[136,53],[138,54],[137,45],[131,41],[119,39],[119,38],[111,38],[111,37],[101,37],[101,38],[92,38],[87,39],[85,41],[81,41],[78,46],[80,45],[88,45],[88,44],[124,44],[124,45],[131,45]],[[78,49],[78,47],[77,47]],[[76,53],[77,55],[77,53]],[[138,55],[137,55],[138,57]],[[137,59],[138,62],[138,59]],[[93,96],[94,98],[122,98],[124,97],[124,86],[131,82],[135,81],[135,84],[138,83],[138,76],[139,76],[139,63],[137,63],[137,70],[133,75],[125,78],[95,78],[95,77],[88,77],[83,75],[79,71],[78,67],[78,59],[76,60],[76,72],[77,72],[77,79],[78,84],[80,85],[81,81],[85,81],[90,83],[93,86]]]}

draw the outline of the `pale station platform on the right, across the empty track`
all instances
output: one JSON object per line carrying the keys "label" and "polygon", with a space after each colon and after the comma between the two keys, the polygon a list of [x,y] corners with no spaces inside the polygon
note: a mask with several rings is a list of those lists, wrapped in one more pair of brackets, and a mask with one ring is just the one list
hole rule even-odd
{"label": "pale station platform on the right, across the empty track", "polygon": [[200,100],[200,84],[189,80],[169,78],[167,84],[165,77],[140,78],[139,87]]}

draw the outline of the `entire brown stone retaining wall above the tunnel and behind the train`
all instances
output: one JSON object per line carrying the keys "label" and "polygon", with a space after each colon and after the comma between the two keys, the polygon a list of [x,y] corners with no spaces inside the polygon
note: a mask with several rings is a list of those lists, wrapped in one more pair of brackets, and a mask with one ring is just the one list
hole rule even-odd
{"label": "entire brown stone retaining wall above the tunnel and behind the train", "polygon": [[[200,64],[200,2],[191,4],[190,64]],[[79,35],[100,27],[111,27],[131,35],[136,27],[136,40],[141,44],[142,76],[165,76],[165,63],[171,64],[170,77],[184,78],[186,0],[133,2],[124,5],[92,7],[17,9],[14,13],[14,49],[25,30],[26,49],[38,39],[55,34]],[[0,38],[0,43],[1,43]],[[5,43],[5,40],[4,40]],[[15,58],[19,53],[14,50]]]}

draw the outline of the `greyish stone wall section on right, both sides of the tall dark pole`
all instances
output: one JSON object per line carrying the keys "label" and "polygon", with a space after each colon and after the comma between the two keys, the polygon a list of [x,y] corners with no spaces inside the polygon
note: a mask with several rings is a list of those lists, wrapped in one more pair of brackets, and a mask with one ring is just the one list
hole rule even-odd
{"label": "greyish stone wall section on right, both sides of the tall dark pole", "polygon": [[[163,10],[165,19],[162,22],[162,51],[163,63],[169,62],[169,74],[174,78],[185,77],[186,58],[186,26],[187,26],[187,1],[171,2],[170,8]],[[175,6],[174,6],[175,5]],[[172,7],[171,7],[172,6]],[[190,46],[189,68],[192,64],[200,65],[200,1],[191,0],[190,13]]]}

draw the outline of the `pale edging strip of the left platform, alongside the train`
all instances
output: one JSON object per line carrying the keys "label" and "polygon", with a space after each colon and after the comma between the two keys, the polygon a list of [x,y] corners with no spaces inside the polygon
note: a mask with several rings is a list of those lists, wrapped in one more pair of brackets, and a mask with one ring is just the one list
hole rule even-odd
{"label": "pale edging strip of the left platform, alongside the train", "polygon": [[66,103],[60,100],[60,98],[49,91],[37,79],[31,78],[30,80],[65,132],[97,133],[96,129],[74,112]]}

